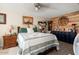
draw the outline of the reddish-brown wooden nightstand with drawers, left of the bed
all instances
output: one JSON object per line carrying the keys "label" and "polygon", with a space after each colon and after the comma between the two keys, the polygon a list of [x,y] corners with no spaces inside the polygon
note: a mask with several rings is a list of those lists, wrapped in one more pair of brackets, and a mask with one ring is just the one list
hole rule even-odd
{"label": "reddish-brown wooden nightstand with drawers, left of the bed", "polygon": [[16,35],[6,35],[3,36],[3,49],[15,47],[17,45],[17,36]]}

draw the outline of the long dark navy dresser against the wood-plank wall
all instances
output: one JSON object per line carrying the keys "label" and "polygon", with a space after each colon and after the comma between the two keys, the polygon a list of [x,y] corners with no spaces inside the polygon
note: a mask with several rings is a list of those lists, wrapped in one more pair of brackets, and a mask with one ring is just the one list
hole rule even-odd
{"label": "long dark navy dresser against the wood-plank wall", "polygon": [[51,31],[52,34],[56,35],[58,40],[73,44],[76,33],[75,32],[62,32],[62,31]]}

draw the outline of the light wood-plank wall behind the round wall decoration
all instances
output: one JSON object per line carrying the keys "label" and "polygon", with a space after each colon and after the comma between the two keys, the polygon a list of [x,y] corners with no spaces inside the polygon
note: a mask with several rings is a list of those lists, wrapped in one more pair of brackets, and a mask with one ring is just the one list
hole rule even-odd
{"label": "light wood-plank wall behind the round wall decoration", "polygon": [[52,17],[51,18],[52,30],[58,29],[58,27],[70,28],[70,27],[72,27],[72,24],[79,25],[79,11],[68,13],[68,14],[65,14],[63,16],[67,16],[69,18],[69,23],[66,26],[59,26],[59,24],[58,24],[59,17]]}

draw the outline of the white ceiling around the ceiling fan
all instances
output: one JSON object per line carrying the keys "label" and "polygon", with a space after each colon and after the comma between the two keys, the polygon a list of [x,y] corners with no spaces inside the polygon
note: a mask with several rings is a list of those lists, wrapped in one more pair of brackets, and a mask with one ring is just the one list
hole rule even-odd
{"label": "white ceiling around the ceiling fan", "polygon": [[35,11],[33,3],[0,3],[0,11],[22,13],[23,15],[53,17],[79,11],[78,3],[42,3],[48,8]]}

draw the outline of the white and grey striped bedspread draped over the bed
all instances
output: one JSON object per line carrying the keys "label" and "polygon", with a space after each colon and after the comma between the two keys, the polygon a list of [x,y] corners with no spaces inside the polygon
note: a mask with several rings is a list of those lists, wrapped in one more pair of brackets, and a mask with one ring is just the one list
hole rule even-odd
{"label": "white and grey striped bedspread draped over the bed", "polygon": [[55,35],[49,33],[33,32],[19,33],[17,38],[21,55],[37,55],[52,47],[59,50],[59,42]]}

